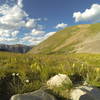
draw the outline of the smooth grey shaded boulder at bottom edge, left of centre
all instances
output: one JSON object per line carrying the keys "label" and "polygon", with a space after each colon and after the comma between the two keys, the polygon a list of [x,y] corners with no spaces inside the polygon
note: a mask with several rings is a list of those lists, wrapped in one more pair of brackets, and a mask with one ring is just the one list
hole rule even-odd
{"label": "smooth grey shaded boulder at bottom edge, left of centre", "polygon": [[56,100],[56,99],[53,95],[48,94],[40,89],[31,93],[14,95],[11,97],[10,100]]}

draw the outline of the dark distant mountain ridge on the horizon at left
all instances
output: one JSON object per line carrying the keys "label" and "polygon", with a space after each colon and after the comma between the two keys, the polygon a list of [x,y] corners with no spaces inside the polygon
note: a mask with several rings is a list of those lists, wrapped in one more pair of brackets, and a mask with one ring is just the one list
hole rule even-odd
{"label": "dark distant mountain ridge on the horizon at left", "polygon": [[5,51],[5,52],[26,53],[31,48],[32,46],[26,46],[21,44],[15,44],[15,45],[0,44],[0,51]]}

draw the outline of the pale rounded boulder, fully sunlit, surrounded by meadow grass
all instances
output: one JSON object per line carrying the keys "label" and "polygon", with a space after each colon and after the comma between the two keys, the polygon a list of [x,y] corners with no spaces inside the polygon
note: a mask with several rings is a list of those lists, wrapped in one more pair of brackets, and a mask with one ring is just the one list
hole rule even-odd
{"label": "pale rounded boulder, fully sunlit, surrounded by meadow grass", "polygon": [[47,81],[48,87],[60,87],[63,84],[71,85],[72,81],[70,78],[65,74],[58,74],[50,78],[50,80]]}

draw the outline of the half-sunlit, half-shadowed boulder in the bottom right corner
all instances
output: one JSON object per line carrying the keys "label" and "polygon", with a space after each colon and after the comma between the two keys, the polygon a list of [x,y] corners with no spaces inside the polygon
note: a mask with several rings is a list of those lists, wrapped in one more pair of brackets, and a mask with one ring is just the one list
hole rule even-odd
{"label": "half-sunlit, half-shadowed boulder in the bottom right corner", "polygon": [[71,92],[72,100],[100,100],[100,89],[89,86],[81,86]]}

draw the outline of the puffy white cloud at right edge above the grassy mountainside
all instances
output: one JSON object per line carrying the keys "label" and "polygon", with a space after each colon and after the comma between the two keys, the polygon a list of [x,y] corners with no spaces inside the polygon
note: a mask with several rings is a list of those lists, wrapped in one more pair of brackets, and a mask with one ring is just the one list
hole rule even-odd
{"label": "puffy white cloud at right edge above the grassy mountainside", "polygon": [[86,9],[83,13],[74,12],[73,18],[79,21],[100,21],[100,4],[93,4],[90,9]]}

